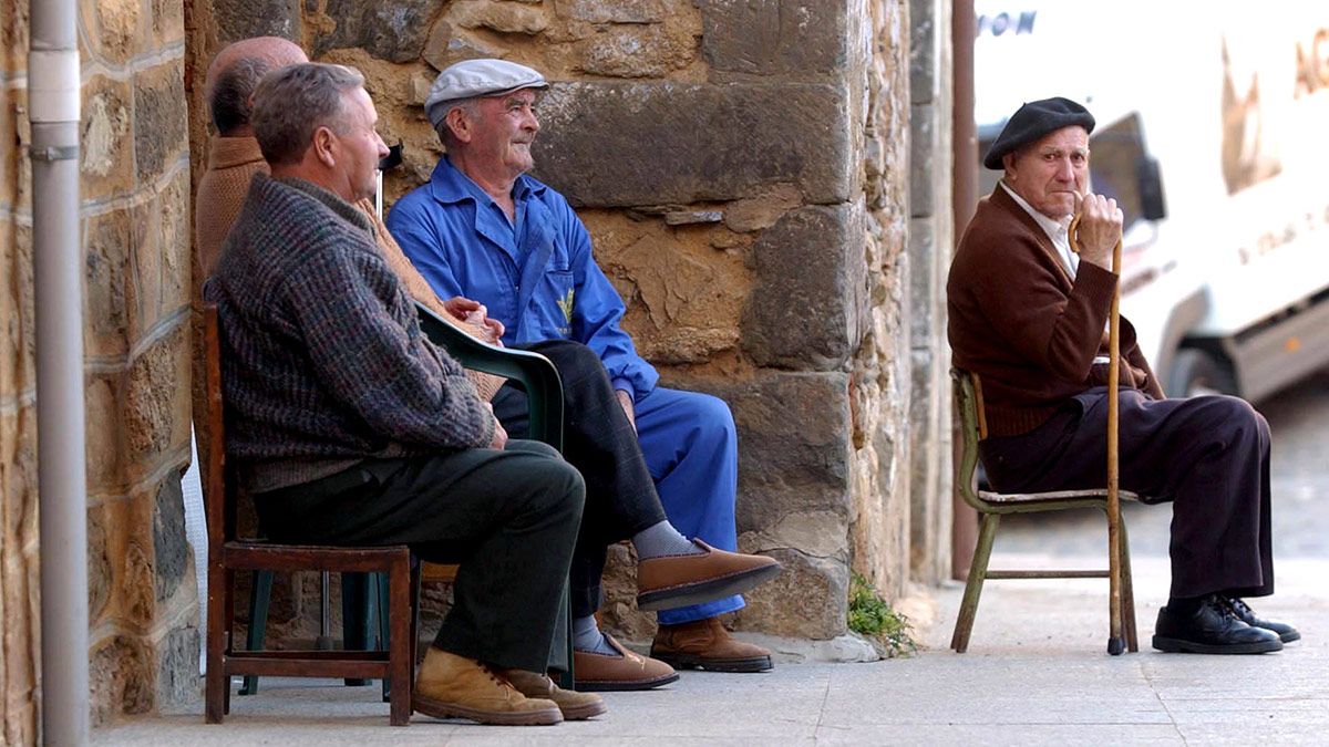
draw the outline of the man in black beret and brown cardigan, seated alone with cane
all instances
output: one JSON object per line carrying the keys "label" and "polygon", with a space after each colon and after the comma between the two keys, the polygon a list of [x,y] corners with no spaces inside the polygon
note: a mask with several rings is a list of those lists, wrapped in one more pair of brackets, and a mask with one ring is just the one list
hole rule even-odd
{"label": "man in black beret and brown cardigan, seated alone with cane", "polygon": [[[1122,211],[1087,190],[1092,129],[1066,98],[1021,106],[983,160],[1005,173],[950,268],[950,344],[982,381],[990,435],[979,455],[1002,490],[1106,481],[1104,327]],[[1080,254],[1067,237],[1076,209]],[[1280,650],[1300,634],[1241,599],[1273,593],[1268,424],[1236,397],[1166,399],[1128,320],[1120,332],[1120,485],[1174,505],[1172,589],[1154,647]]]}

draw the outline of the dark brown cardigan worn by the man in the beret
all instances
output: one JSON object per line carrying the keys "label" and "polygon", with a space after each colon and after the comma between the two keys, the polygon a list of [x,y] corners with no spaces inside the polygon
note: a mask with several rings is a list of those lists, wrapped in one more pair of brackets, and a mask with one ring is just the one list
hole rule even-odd
{"label": "dark brown cardigan worn by the man in the beret", "polygon": [[[991,436],[1027,433],[1067,399],[1107,384],[1107,316],[1116,275],[1082,262],[1075,279],[1047,234],[998,186],[978,202],[946,283],[956,366],[977,374]],[[1163,389],[1120,326],[1122,387]]]}

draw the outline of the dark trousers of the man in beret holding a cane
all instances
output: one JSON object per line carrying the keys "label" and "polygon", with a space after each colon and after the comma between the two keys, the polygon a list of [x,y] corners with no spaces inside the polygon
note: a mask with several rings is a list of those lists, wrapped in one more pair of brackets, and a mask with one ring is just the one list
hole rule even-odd
{"label": "dark trousers of the man in beret holding a cane", "polygon": [[[1119,392],[1119,475],[1150,502],[1172,501],[1172,595],[1273,593],[1269,424],[1228,396],[1151,400]],[[987,479],[1007,492],[1107,482],[1107,389],[1090,389],[1022,436],[979,444]]]}

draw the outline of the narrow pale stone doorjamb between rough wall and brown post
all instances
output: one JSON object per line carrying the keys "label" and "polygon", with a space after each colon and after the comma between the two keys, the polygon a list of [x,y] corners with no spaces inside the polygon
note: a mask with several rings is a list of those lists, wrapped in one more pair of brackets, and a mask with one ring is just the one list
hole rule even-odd
{"label": "narrow pale stone doorjamb between rough wall and brown post", "polygon": [[909,12],[910,566],[937,584],[950,576],[950,3],[910,0]]}

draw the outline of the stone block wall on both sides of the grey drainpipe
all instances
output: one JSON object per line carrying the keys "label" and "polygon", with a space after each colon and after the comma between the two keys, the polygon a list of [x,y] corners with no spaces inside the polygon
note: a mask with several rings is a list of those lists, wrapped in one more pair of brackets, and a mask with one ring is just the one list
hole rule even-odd
{"label": "stone block wall on both sides of the grey drainpipe", "polygon": [[[0,501],[5,743],[36,736],[39,577],[27,3],[4,5]],[[182,5],[78,12],[93,723],[197,698],[189,461],[189,153]]]}

